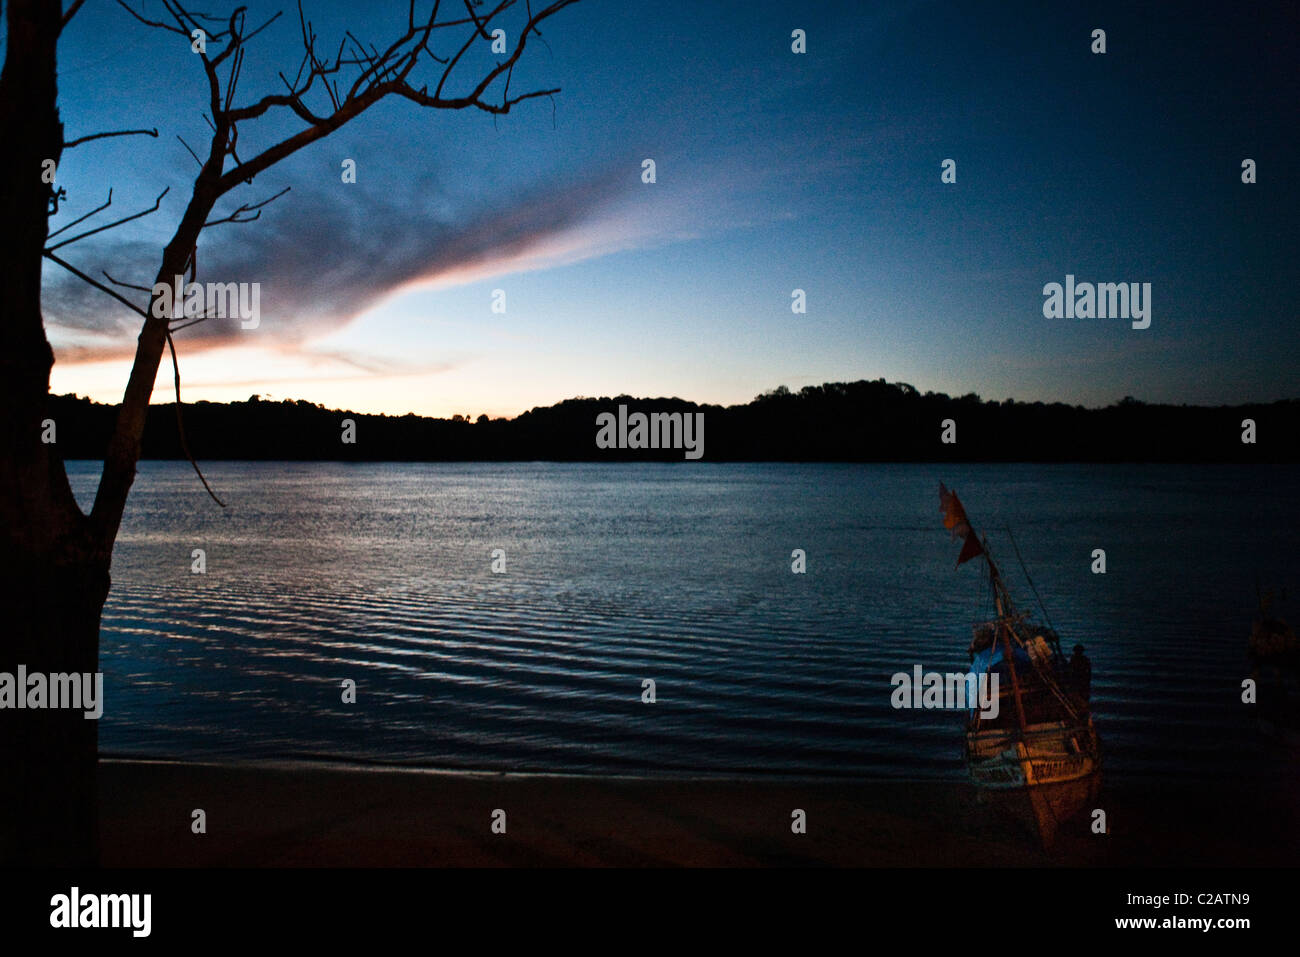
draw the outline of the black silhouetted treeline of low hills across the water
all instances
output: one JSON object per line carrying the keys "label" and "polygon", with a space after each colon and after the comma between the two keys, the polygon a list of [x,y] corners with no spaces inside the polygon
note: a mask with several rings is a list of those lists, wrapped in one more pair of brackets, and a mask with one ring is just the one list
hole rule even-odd
{"label": "black silhouetted treeline of low hills across the water", "polygon": [[[910,385],[833,382],[784,386],[742,406],[684,399],[576,398],[515,419],[425,419],[326,410],[308,402],[195,402],[185,430],[199,460],[329,459],[684,460],[681,450],[598,449],[597,416],[703,412],[703,462],[1297,462],[1300,400],[1235,407],[1156,406],[1126,398],[1106,408],[983,402],[919,393]],[[65,459],[101,459],[114,406],[73,395],[51,399]],[[342,441],[355,420],[356,442]],[[941,442],[941,423],[957,442]],[[1256,442],[1243,442],[1252,419]],[[173,404],[150,410],[147,459],[183,459]]]}

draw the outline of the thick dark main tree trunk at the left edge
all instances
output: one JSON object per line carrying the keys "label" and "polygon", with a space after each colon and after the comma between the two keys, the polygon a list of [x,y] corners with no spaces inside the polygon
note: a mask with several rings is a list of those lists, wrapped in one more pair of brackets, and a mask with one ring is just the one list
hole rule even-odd
{"label": "thick dark main tree trunk at the left edge", "polygon": [[[40,313],[42,250],[62,152],[57,0],[10,0],[0,73],[0,672],[98,671],[109,549],[77,507],[48,436],[53,352]],[[57,181],[57,179],[56,179]],[[100,540],[101,541],[101,540]],[[0,679],[3,680],[3,679]],[[25,689],[16,688],[14,693]],[[112,706],[112,705],[109,705]],[[0,709],[0,863],[94,863],[98,723],[81,710]]]}

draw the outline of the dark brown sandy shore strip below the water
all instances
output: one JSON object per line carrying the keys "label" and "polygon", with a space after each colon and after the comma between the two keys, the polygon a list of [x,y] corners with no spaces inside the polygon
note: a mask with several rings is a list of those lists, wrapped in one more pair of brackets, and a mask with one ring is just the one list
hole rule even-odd
{"label": "dark brown sandy shore strip below the water", "polygon": [[[1294,865],[1296,802],[1112,789],[1045,849],[963,784],[100,762],[107,867]],[[1228,801],[1227,805],[1223,801]],[[191,813],[207,833],[191,832]],[[506,833],[491,815],[506,811]],[[807,832],[792,832],[792,811]]]}

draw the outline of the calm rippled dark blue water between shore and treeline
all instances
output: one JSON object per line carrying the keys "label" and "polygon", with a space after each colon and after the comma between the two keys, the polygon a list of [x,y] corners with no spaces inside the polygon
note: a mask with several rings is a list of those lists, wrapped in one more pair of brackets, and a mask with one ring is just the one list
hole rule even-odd
{"label": "calm rippled dark blue water between shore and treeline", "polygon": [[[72,463],[78,498],[98,463]],[[1239,703],[1256,573],[1300,583],[1291,467],[148,462],[113,560],[101,749],[562,771],[956,776],[988,611],[956,488],[1013,592],[1093,661],[1115,775],[1266,779]],[[191,550],[207,573],[191,573]],[[506,573],[490,553],[504,549]],[[807,573],[790,572],[805,549]],[[1104,547],[1108,573],[1089,571]],[[642,679],[658,702],[641,702]],[[341,683],[358,687],[355,705]]]}

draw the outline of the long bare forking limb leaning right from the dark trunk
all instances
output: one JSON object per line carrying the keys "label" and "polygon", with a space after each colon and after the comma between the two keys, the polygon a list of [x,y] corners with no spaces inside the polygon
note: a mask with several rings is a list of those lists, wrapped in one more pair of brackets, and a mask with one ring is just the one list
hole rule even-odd
{"label": "long bare forking limb leaning right from the dark trunk", "polygon": [[[126,0],[117,1],[140,23],[179,34],[186,39],[192,30],[204,29],[200,23],[221,22],[207,14],[190,13],[183,7],[182,0],[160,0],[166,9],[169,21],[165,18],[152,20],[133,9]],[[320,38],[307,18],[302,3],[299,3],[302,56],[292,81],[289,79],[287,69],[282,73],[273,72],[280,77],[283,91],[266,94],[242,105],[238,101],[238,94],[244,66],[244,44],[274,18],[256,30],[247,31],[244,9],[240,7],[224,21],[222,29],[208,33],[205,48],[196,52],[208,81],[208,112],[211,116],[208,122],[212,135],[207,159],[190,150],[188,143],[181,140],[199,163],[200,169],[176,234],[164,247],[157,273],[159,281],[186,270],[190,270],[192,276],[195,243],[204,228],[221,222],[255,220],[261,208],[272,199],[283,195],[283,191],[260,203],[243,204],[229,216],[212,218],[213,208],[221,196],[243,183],[252,182],[259,173],[303,147],[328,137],[386,96],[400,96],[436,109],[474,108],[497,116],[508,113],[512,107],[524,100],[540,96],[554,98],[554,94],[559,92],[559,87],[514,92],[514,66],[523,56],[530,38],[534,35],[541,38],[540,25],[577,0],[551,0],[540,9],[533,8],[532,0],[525,0],[524,4],[520,4],[519,0],[493,0],[491,9],[484,13],[480,13],[472,3],[465,0],[460,0],[460,3],[465,7],[465,16],[451,16],[442,20],[439,18],[442,0],[432,0],[428,17],[421,18],[416,17],[415,1],[411,0],[407,5],[404,33],[386,48],[363,43],[351,31],[344,31],[337,48],[333,43],[329,44],[329,48],[334,49],[333,56],[321,53]],[[484,40],[491,40],[494,20],[515,8],[526,10],[526,21],[510,56],[486,69],[485,73],[477,74],[473,87],[467,92],[456,95],[445,92],[455,88],[454,81],[460,77],[458,70],[462,69],[469,51]],[[446,55],[441,56],[434,48],[437,44],[433,43],[433,38],[447,35],[448,29],[459,30],[462,27],[468,33],[468,38],[456,34],[459,39],[448,43],[443,51]],[[214,44],[222,46],[218,48]],[[212,51],[211,55],[208,51]],[[221,70],[218,74],[218,68],[226,60],[230,60],[229,69]],[[437,64],[436,68],[430,69],[428,82],[422,82],[416,74],[416,70],[424,64]],[[489,92],[495,90],[498,79],[503,81],[499,96],[495,92]],[[350,85],[348,81],[351,81]],[[551,107],[554,120],[554,99]],[[281,117],[285,113],[292,113],[304,124],[304,127],[289,133],[282,139],[272,140],[270,146],[264,147],[261,152],[247,160],[239,157],[237,153],[239,125],[272,111]],[[131,364],[130,378],[118,407],[117,424],[104,456],[103,476],[90,514],[92,533],[101,541],[112,544],[121,525],[126,498],[135,477],[135,463],[139,459],[150,400],[162,352],[166,348],[172,350],[173,372],[178,384],[177,407],[179,410],[179,364],[172,339],[172,333],[179,329],[170,326],[186,328],[198,321],[204,321],[204,319],[183,317],[183,324],[181,324],[177,320],[164,317],[146,317],[144,328],[136,339],[135,360]]]}

